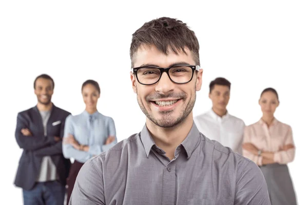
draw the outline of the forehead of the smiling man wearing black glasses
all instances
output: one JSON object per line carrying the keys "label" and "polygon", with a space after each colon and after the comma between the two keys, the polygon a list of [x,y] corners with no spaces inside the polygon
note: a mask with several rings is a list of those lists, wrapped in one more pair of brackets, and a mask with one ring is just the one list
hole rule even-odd
{"label": "forehead of the smiling man wearing black glasses", "polygon": [[195,60],[192,52],[185,48],[185,52],[178,51],[176,54],[170,48],[168,54],[161,52],[156,46],[141,46],[134,54],[133,65],[134,67],[140,67],[146,64],[156,65],[159,67],[168,67],[178,62],[185,62],[189,65],[195,65]]}

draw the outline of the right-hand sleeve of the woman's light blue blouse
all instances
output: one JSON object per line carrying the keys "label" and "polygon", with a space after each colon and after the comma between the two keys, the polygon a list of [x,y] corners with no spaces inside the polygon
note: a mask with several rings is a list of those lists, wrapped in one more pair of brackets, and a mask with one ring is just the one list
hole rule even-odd
{"label": "right-hand sleeve of the woman's light blue blouse", "polygon": [[114,136],[114,141],[111,142],[108,145],[91,145],[89,146],[89,153],[92,155],[99,155],[102,152],[108,151],[110,148],[112,148],[115,144],[118,143],[118,139],[115,132],[115,125],[113,119],[110,117],[107,121],[107,130],[108,130],[108,136]]}

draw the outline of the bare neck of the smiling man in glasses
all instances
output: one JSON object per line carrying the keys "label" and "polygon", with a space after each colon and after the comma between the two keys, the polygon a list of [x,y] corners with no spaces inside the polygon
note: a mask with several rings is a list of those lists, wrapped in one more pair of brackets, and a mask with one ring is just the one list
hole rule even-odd
{"label": "bare neck of the smiling man in glasses", "polygon": [[147,129],[155,144],[166,152],[170,160],[174,158],[176,148],[187,137],[193,123],[192,112],[180,124],[170,128],[159,127],[148,118],[146,119]]}

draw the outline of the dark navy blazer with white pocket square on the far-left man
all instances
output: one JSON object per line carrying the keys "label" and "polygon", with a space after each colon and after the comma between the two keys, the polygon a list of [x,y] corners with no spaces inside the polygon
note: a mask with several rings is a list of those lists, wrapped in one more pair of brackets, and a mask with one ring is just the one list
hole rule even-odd
{"label": "dark navy blazer with white pocket square on the far-left man", "polygon": [[[31,190],[40,173],[41,162],[44,156],[50,156],[59,175],[60,182],[65,185],[69,173],[70,160],[62,154],[62,140],[56,142],[54,136],[63,138],[64,123],[70,113],[55,107],[47,122],[47,136],[44,136],[44,126],[37,107],[22,111],[17,115],[15,137],[20,148],[24,149],[19,161],[15,185],[25,190]],[[28,128],[32,136],[24,136],[23,128]]]}

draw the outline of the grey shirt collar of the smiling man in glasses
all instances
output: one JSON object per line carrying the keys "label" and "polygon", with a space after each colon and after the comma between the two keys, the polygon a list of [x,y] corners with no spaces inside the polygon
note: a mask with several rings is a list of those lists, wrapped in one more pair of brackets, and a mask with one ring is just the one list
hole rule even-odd
{"label": "grey shirt collar of the smiling man in glasses", "polygon": [[[141,141],[146,153],[146,156],[149,157],[150,151],[152,147],[155,145],[155,142],[150,135],[146,125],[144,125],[142,131],[141,131]],[[186,153],[187,153],[187,158],[189,158],[196,149],[197,142],[200,140],[200,132],[197,128],[197,126],[194,124],[192,125],[188,135],[184,139],[184,141],[181,143],[181,145],[184,147]]]}

